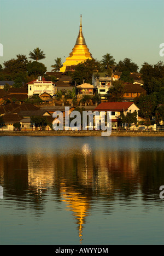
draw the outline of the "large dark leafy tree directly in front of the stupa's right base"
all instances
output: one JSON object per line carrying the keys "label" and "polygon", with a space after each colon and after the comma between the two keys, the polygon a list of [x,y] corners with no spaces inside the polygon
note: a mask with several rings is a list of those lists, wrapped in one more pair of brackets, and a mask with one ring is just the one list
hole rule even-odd
{"label": "large dark leafy tree directly in front of the stupa's right base", "polygon": [[75,71],[72,75],[72,80],[77,85],[85,83],[92,83],[93,72],[101,72],[101,63],[95,59],[87,59],[83,63],[75,66]]}

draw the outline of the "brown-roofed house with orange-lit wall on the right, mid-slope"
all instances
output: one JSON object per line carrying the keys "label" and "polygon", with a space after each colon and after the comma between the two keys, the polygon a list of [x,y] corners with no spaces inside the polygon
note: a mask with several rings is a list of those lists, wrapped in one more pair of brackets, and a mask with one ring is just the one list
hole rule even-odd
{"label": "brown-roofed house with orange-lit wall on the right, mid-slope", "polygon": [[139,97],[141,94],[147,94],[142,86],[139,84],[129,84],[125,83],[124,86],[124,100],[125,101],[133,101],[135,97]]}

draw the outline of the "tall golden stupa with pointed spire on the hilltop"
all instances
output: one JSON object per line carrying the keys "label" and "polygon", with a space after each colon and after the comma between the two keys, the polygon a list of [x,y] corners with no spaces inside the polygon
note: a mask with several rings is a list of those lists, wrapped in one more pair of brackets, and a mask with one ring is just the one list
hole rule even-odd
{"label": "tall golden stupa with pointed spire on the hilltop", "polygon": [[92,59],[92,55],[89,52],[89,49],[87,48],[87,45],[85,43],[85,38],[82,33],[82,20],[80,16],[80,31],[77,42],[72,49],[72,53],[69,54],[69,57],[67,57],[66,61],[63,63],[60,72],[65,72],[67,66],[71,67],[74,65],[78,65],[79,63],[84,62],[87,59]]}

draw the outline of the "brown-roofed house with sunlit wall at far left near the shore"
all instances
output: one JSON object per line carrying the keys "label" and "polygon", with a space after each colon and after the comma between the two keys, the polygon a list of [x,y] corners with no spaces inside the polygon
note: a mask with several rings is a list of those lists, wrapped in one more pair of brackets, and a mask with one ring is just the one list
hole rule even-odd
{"label": "brown-roofed house with sunlit wall at far left near the shore", "polygon": [[0,124],[0,130],[1,131],[13,131],[14,130],[14,124],[19,123],[22,119],[21,115],[19,114],[5,114],[2,116],[3,121]]}

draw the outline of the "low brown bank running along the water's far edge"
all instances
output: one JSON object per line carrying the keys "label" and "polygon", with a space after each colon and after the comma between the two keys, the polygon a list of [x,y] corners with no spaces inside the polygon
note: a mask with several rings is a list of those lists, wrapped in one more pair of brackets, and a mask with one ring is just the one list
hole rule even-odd
{"label": "low brown bank running along the water's far edge", "polygon": [[[71,136],[71,137],[90,137],[102,136],[102,131],[0,131],[0,137],[3,136]],[[164,137],[163,132],[154,131],[112,131],[110,136],[118,137]],[[107,137],[110,137],[107,136]]]}

